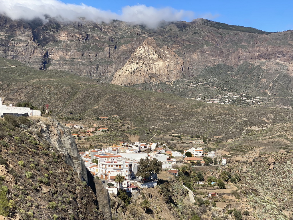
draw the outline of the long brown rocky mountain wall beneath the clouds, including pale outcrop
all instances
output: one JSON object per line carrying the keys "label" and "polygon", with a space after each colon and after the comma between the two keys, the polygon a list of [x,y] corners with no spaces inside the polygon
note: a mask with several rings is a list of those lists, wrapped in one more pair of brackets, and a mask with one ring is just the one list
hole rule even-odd
{"label": "long brown rocky mountain wall beneath the clouds, including pale outcrop", "polygon": [[[284,87],[280,75],[288,79],[293,75],[293,31],[247,33],[214,28],[203,19],[150,30],[121,21],[60,23],[51,19],[42,24],[1,16],[0,33],[2,57],[119,85],[196,77],[205,67],[239,67],[249,62],[264,70],[260,88],[275,93],[275,87]],[[241,75],[233,77],[240,80]]]}

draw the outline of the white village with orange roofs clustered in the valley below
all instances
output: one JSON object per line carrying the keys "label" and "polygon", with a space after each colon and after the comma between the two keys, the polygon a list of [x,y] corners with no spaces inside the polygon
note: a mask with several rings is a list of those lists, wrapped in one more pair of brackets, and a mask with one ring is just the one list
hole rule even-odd
{"label": "white village with orange roofs clustered in the valley below", "polygon": [[[204,153],[203,147],[194,146],[180,153],[179,151],[171,150],[166,144],[159,142],[120,142],[105,148],[80,152],[80,155],[93,176],[102,180],[108,192],[114,194],[117,194],[119,189],[135,192],[139,188],[150,188],[157,185],[158,177],[156,174],[151,175],[149,179],[143,179],[136,175],[139,170],[139,161],[144,158],[161,161],[162,170],[174,176],[178,175],[179,170],[173,167],[178,167],[178,165],[210,166],[213,163],[211,164],[206,158],[211,158],[212,162],[214,158],[217,160],[216,152]],[[222,165],[226,165],[225,158],[222,158],[219,162]],[[124,181],[115,181],[117,176],[123,176]],[[199,181],[197,184],[202,185],[203,182]]]}

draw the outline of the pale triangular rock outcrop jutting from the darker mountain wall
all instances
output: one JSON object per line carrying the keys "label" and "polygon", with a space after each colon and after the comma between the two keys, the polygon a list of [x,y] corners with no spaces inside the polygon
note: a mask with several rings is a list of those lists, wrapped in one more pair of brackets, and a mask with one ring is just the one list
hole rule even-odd
{"label": "pale triangular rock outcrop jutting from the darker mountain wall", "polygon": [[170,48],[159,48],[153,38],[147,38],[134,51],[124,67],[115,73],[111,83],[132,86],[173,82],[182,78],[183,65],[183,60]]}

